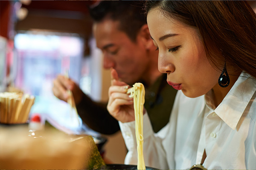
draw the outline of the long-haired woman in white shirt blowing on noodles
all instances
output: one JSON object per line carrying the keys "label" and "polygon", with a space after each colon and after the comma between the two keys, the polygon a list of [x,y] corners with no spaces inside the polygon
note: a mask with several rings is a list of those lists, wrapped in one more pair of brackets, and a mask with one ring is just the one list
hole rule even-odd
{"label": "long-haired woman in white shirt blowing on noodles", "polygon": [[[177,93],[169,124],[154,134],[144,114],[145,165],[160,169],[256,169],[256,15],[245,1],[148,1],[158,68]],[[109,89],[136,164],[132,105]],[[202,167],[203,166],[203,167]]]}

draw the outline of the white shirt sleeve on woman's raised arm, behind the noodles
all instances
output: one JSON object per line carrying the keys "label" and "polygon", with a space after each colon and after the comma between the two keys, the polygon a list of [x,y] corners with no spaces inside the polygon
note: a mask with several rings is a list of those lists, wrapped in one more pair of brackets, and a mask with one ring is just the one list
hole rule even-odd
{"label": "white shirt sleeve on woman's raised arm, behind the noodles", "polygon": [[[125,164],[137,164],[135,121],[127,123],[119,122],[119,126],[128,149]],[[161,142],[163,139],[154,133],[147,113],[143,116],[143,138],[145,166],[168,169],[166,154]]]}

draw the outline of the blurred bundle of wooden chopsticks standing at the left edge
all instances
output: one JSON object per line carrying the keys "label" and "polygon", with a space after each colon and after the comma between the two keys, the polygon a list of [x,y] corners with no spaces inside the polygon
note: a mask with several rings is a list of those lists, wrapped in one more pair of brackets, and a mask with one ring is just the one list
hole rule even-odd
{"label": "blurred bundle of wooden chopsticks standing at the left edge", "polygon": [[26,123],[35,97],[14,92],[0,93],[0,123]]}

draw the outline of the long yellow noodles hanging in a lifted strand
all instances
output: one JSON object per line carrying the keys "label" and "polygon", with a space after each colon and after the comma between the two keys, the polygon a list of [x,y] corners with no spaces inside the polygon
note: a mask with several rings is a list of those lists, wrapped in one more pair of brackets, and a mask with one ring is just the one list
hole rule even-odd
{"label": "long yellow noodles hanging in a lifted strand", "polygon": [[134,97],[134,114],[135,114],[135,128],[137,140],[137,154],[138,154],[138,170],[145,170],[145,162],[143,156],[143,104],[145,102],[145,89],[143,84],[135,83],[133,88],[128,89],[127,93]]}

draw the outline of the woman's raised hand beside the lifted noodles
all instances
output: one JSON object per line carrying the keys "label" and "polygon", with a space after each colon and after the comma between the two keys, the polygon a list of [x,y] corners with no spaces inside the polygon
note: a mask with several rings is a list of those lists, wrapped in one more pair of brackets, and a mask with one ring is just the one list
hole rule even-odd
{"label": "woman's raised hand beside the lifted noodles", "polygon": [[120,122],[134,121],[133,98],[126,94],[129,85],[118,80],[116,70],[111,70],[111,87],[108,90],[108,112]]}

